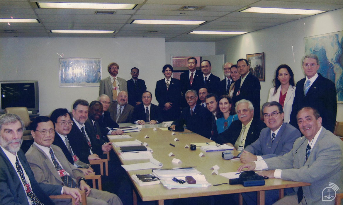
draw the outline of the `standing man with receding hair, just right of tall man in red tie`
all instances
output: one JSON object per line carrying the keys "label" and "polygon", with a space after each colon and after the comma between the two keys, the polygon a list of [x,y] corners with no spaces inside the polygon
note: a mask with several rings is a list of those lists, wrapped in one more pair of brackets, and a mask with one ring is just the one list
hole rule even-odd
{"label": "standing man with receding hair, just right of tall man in red tie", "polygon": [[218,89],[220,78],[211,73],[212,67],[209,60],[203,60],[201,62],[201,72],[203,73],[203,79],[201,81],[201,86],[205,85],[209,93],[214,93],[219,95],[220,89]]}

